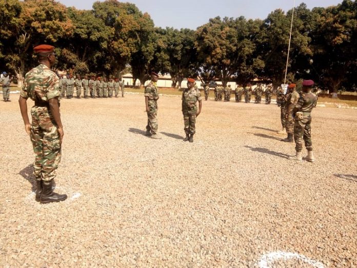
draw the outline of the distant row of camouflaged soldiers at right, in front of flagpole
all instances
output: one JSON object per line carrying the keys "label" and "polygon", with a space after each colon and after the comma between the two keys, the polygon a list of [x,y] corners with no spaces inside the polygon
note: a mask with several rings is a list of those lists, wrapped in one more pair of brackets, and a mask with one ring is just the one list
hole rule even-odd
{"label": "distant row of camouflaged soldiers at right, in front of flagpole", "polygon": [[[204,85],[204,92],[205,92],[205,100],[208,100],[208,95],[209,95],[209,86]],[[226,87],[223,87],[222,85],[217,85],[214,88],[214,101],[222,101],[222,98],[224,97],[225,102],[230,101],[230,96],[231,96],[231,86],[228,85]],[[273,93],[272,87],[268,86],[267,89],[264,91],[262,84],[258,84],[257,87],[253,90],[251,85],[248,84],[246,87],[243,87],[241,85],[237,85],[234,91],[235,95],[235,102],[241,102],[242,101],[242,95],[244,94],[244,101],[245,103],[249,103],[251,99],[251,94],[254,92],[255,94],[255,103],[261,103],[262,101],[262,94],[265,92],[265,103],[270,104],[271,103],[271,94]]]}

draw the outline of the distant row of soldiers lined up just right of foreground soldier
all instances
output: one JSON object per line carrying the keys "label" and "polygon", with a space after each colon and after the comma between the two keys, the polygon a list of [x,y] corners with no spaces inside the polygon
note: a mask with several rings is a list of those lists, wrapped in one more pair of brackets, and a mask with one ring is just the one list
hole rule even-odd
{"label": "distant row of soldiers lined up just right of foreground soldier", "polygon": [[124,81],[120,82],[117,78],[110,78],[109,81],[101,76],[95,78],[94,75],[88,79],[89,75],[85,75],[84,78],[81,78],[81,75],[76,75],[76,78],[73,78],[73,74],[67,74],[66,76],[58,75],[60,78],[60,83],[58,85],[61,97],[67,97],[67,99],[72,99],[74,94],[74,87],[76,88],[76,97],[81,98],[82,90],[84,93],[84,98],[112,98],[113,93],[117,98],[120,92],[122,97],[124,97]]}

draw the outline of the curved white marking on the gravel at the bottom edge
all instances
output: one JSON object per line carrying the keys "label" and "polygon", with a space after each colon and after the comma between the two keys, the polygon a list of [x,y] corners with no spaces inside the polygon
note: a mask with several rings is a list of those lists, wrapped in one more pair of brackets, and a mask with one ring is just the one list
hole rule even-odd
{"label": "curved white marking on the gravel at the bottom edge", "polygon": [[283,260],[289,260],[289,259],[298,259],[302,260],[303,262],[310,264],[312,267],[315,268],[325,268],[324,264],[322,264],[319,261],[310,259],[304,255],[300,255],[297,253],[291,253],[291,252],[283,252],[283,251],[277,251],[277,252],[271,252],[268,254],[264,254],[262,258],[260,259],[258,266],[259,268],[269,268],[270,264],[273,261],[283,259]]}

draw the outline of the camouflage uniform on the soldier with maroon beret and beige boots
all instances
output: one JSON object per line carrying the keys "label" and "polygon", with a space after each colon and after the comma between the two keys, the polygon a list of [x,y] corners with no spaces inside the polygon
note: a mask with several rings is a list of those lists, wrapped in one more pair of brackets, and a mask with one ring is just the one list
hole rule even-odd
{"label": "camouflage uniform on the soldier with maroon beret and beige boots", "polygon": [[311,141],[311,111],[316,107],[318,98],[313,93],[302,95],[294,108],[294,140],[295,150],[301,152],[303,140],[308,151],[312,151]]}

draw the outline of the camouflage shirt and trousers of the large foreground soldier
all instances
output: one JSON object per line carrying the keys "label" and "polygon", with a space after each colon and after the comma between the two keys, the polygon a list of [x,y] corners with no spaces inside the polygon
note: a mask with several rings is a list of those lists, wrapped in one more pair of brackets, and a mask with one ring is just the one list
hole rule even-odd
{"label": "camouflage shirt and trousers of the large foreground soldier", "polygon": [[38,181],[53,180],[61,162],[61,142],[48,106],[50,99],[58,98],[60,102],[58,82],[57,75],[46,65],[40,64],[25,75],[20,92],[26,100],[31,98],[35,101],[31,108],[31,142],[35,153],[34,176]]}

